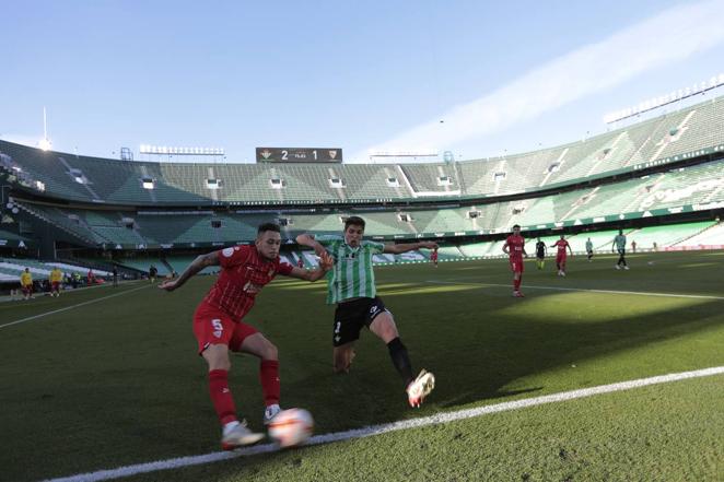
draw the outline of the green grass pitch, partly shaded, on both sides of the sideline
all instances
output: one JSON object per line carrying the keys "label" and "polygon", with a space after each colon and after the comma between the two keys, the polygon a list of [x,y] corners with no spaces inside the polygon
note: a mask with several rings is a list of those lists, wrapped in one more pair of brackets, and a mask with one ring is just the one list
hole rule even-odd
{"label": "green grass pitch, partly shaded, on both sides of the sideline", "polygon": [[[379,267],[378,294],[416,369],[437,386],[407,407],[386,348],[363,332],[331,373],[324,281],[278,278],[247,321],[280,351],[282,405],[325,434],[724,365],[724,252]],[[0,480],[26,481],[219,450],[191,315],[211,277],[175,293],[140,284],[0,304]],[[136,290],[130,292],[130,290]],[[599,291],[585,291],[599,290]],[[629,293],[612,293],[629,292]],[[633,293],[637,292],[637,293]],[[645,296],[640,292],[687,296]],[[261,430],[258,365],[234,355],[236,405]],[[135,475],[129,481],[721,481],[724,376],[675,381],[327,445]]]}

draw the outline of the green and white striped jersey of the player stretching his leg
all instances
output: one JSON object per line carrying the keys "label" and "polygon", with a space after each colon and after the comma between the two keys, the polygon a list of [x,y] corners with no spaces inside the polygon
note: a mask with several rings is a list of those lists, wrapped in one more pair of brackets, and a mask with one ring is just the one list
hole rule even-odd
{"label": "green and white striped jersey of the player stretching his leg", "polygon": [[383,252],[383,243],[363,240],[358,248],[352,248],[342,236],[317,236],[316,240],[335,260],[335,266],[327,273],[327,304],[375,297],[372,256]]}

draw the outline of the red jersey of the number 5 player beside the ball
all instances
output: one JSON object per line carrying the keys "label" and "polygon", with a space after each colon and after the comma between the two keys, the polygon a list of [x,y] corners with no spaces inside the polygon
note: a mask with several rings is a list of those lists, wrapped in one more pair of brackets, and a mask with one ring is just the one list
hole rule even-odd
{"label": "red jersey of the number 5 player beside the ball", "polygon": [[279,258],[267,261],[259,256],[256,246],[235,246],[219,251],[221,272],[203,298],[231,317],[241,320],[249,313],[257,293],[275,279],[277,273],[289,274],[292,266]]}

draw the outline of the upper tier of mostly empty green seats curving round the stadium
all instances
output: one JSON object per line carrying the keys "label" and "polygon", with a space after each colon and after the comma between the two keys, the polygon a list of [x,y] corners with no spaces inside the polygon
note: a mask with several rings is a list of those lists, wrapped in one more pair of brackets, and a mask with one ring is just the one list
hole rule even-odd
{"label": "upper tier of mostly empty green seats curving round the stadium", "polygon": [[93,204],[334,204],[494,197],[722,150],[723,98],[584,141],[486,160],[379,165],[154,163],[45,152],[0,141],[0,166],[19,188]]}

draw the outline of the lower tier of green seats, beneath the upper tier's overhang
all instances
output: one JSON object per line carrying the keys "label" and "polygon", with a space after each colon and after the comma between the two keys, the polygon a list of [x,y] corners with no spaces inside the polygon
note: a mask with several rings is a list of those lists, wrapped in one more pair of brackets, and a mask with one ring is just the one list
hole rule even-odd
{"label": "lower tier of green seats, beneath the upper tier's overhang", "polygon": [[[343,220],[362,215],[365,234],[387,238],[455,233],[509,232],[642,218],[652,213],[707,210],[724,202],[724,161],[670,169],[641,178],[582,188],[557,195],[440,209],[289,211],[113,211],[58,208],[19,201],[27,213],[90,245],[150,247],[165,245],[229,245],[253,240],[264,222],[282,224],[282,237],[301,232],[341,234]],[[475,215],[474,215],[475,214]]]}

